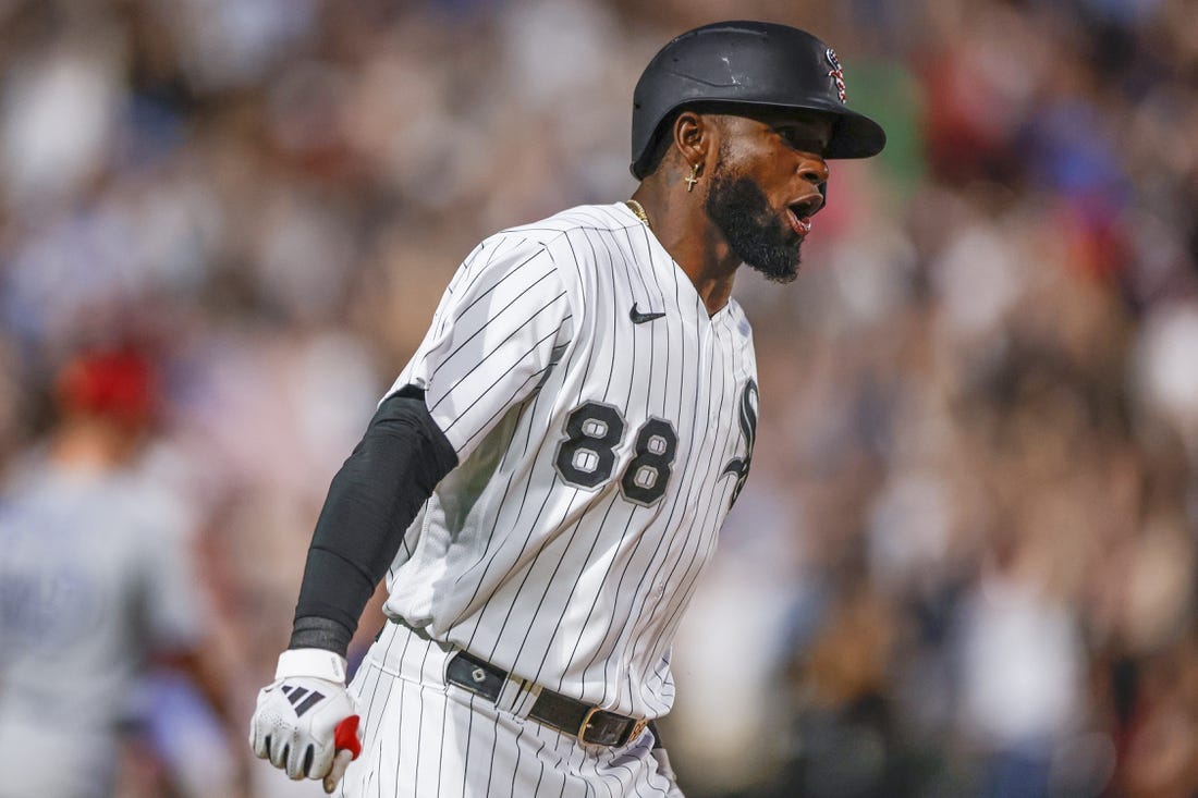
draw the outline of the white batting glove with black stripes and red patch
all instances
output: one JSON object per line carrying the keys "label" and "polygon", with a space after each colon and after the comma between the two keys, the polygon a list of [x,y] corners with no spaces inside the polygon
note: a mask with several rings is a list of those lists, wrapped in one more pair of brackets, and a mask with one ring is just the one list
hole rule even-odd
{"label": "white batting glove with black stripes and red patch", "polygon": [[362,750],[357,727],[345,659],[297,648],[283,652],[274,682],[258,694],[249,745],[291,779],[323,779],[325,792],[332,793]]}

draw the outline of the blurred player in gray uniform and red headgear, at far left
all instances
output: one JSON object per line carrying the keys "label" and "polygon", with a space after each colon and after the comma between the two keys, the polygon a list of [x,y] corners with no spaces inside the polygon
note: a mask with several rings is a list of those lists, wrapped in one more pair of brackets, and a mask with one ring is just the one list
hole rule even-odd
{"label": "blurred player in gray uniform and red headgear, at far left", "polygon": [[2,485],[0,798],[113,796],[150,659],[228,712],[189,513],[144,471],[157,395],[133,349],[73,358],[50,434]]}

